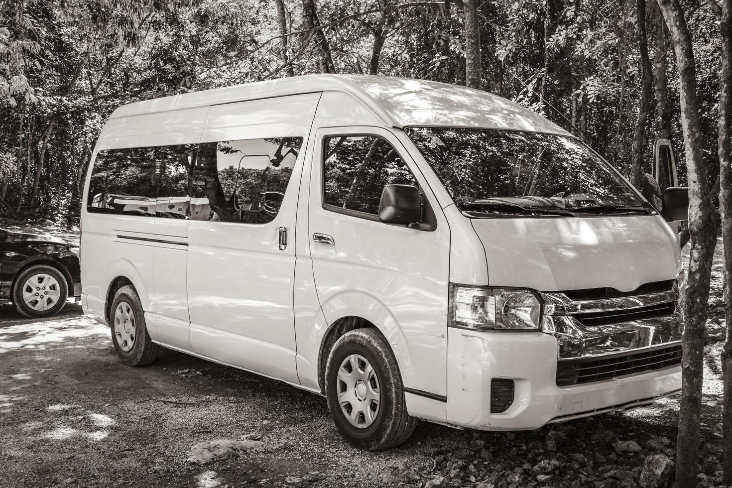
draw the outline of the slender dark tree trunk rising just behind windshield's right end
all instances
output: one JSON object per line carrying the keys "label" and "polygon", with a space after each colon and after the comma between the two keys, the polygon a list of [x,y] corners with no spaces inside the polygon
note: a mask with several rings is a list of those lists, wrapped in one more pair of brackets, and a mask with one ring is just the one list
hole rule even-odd
{"label": "slender dark tree trunk rising just behind windshield's right end", "polygon": [[653,96],[653,68],[648,54],[648,40],[646,39],[646,0],[638,0],[638,54],[641,56],[641,103],[638,108],[638,121],[635,124],[633,135],[630,182],[636,188],[641,188],[643,178],[643,149],[646,143],[648,130],[648,114],[651,111],[651,97]]}

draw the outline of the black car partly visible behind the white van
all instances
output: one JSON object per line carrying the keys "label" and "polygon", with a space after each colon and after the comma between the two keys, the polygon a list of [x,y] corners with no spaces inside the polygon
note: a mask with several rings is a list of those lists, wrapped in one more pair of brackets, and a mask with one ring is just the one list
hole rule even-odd
{"label": "black car partly visible behind the white van", "polygon": [[81,295],[79,247],[71,241],[0,229],[0,304],[50,317]]}

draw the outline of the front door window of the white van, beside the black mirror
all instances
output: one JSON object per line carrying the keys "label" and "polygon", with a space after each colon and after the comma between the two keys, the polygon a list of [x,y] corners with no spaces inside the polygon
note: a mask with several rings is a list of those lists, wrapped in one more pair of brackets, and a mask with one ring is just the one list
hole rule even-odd
{"label": "front door window of the white van, beside the black mirror", "polygon": [[326,205],[378,215],[387,184],[417,186],[394,147],[376,135],[325,138],[323,151]]}

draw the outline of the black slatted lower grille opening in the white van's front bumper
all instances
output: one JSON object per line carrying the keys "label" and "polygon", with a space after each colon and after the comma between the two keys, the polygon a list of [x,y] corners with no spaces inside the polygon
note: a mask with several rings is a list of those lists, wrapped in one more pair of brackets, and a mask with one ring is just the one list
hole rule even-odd
{"label": "black slatted lower grille opening in the white van's front bumper", "polygon": [[602,359],[583,358],[559,361],[556,368],[557,386],[594,383],[618,376],[654,371],[681,364],[681,344],[668,345],[631,354],[619,354]]}

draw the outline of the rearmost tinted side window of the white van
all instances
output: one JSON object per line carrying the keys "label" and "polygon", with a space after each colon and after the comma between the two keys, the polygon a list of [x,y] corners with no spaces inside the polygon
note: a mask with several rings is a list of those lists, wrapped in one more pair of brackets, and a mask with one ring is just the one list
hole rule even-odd
{"label": "rearmost tinted side window of the white van", "polygon": [[153,217],[157,195],[154,147],[99,151],[91,170],[89,211]]}

